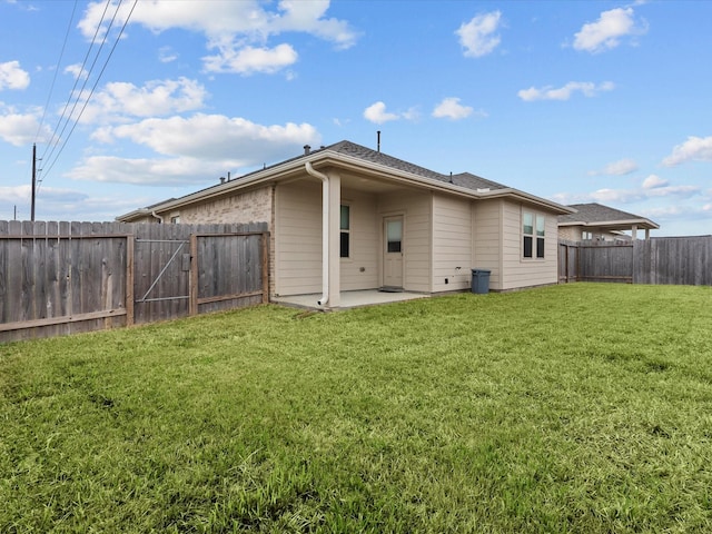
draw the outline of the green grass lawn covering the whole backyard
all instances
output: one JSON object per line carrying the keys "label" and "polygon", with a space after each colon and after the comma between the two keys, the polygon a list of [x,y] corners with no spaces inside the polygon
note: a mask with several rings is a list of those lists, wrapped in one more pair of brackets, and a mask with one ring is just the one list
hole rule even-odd
{"label": "green grass lawn covering the whole backyard", "polygon": [[712,288],[0,345],[0,532],[712,530]]}

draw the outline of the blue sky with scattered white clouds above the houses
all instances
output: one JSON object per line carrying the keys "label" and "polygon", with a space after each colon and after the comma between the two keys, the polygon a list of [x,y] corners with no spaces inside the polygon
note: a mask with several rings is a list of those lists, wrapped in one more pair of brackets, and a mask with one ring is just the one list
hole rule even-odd
{"label": "blue sky with scattered white clouds above the houses", "polygon": [[29,219],[33,142],[38,220],[112,220],[380,130],[439,172],[712,234],[711,20],[681,0],[0,0],[0,219]]}

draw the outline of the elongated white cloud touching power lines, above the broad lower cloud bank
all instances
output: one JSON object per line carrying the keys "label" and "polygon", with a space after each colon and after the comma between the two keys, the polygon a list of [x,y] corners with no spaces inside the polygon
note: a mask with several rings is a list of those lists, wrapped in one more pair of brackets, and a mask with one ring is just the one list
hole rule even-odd
{"label": "elongated white cloud touching power lines, above the broad lower cloud bank", "polygon": [[152,80],[144,87],[128,82],[111,82],[91,97],[81,122],[192,111],[205,106],[207,96],[202,85],[188,78]]}

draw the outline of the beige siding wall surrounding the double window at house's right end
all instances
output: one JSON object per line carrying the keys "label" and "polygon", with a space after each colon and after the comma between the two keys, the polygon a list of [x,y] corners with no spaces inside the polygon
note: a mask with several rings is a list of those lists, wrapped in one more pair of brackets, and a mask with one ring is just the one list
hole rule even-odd
{"label": "beige siding wall surrounding the double window at house's right end", "polygon": [[[522,210],[546,217],[544,259],[522,257]],[[556,215],[537,208],[522,207],[520,204],[503,204],[503,269],[502,289],[556,284],[558,225]]]}

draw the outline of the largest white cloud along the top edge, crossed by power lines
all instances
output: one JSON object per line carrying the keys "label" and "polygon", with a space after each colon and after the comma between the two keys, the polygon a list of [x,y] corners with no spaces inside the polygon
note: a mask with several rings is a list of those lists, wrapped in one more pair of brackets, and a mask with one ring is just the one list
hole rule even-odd
{"label": "largest white cloud along the top edge, crossed by power lines", "polygon": [[[88,39],[101,23],[105,3],[90,3],[79,23]],[[118,10],[115,26],[127,19],[130,3]],[[290,44],[267,46],[274,36],[308,33],[333,42],[337,49],[352,47],[358,37],[348,22],[326,17],[328,0],[281,0],[273,10],[270,6],[258,0],[156,0],[139,2],[130,21],[157,33],[172,28],[202,33],[207,48],[217,50],[217,55],[204,58],[206,70],[243,75],[274,73],[296,61],[297,52]],[[106,32],[106,22],[102,29]]]}

